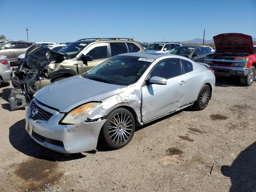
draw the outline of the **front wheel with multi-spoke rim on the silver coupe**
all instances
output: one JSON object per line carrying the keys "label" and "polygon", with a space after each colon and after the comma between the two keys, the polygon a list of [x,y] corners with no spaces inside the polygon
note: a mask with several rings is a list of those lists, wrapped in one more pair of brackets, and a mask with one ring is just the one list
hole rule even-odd
{"label": "front wheel with multi-spoke rim on the silver coupe", "polygon": [[116,108],[108,114],[102,126],[104,144],[113,149],[126,146],[132,140],[135,127],[132,113],[125,108]]}

